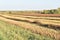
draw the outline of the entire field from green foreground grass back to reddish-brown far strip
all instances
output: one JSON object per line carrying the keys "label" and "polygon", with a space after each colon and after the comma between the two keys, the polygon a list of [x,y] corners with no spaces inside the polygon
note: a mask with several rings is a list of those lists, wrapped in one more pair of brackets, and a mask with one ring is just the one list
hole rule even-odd
{"label": "entire field from green foreground grass back to reddish-brown far strip", "polygon": [[1,14],[1,40],[60,40],[60,15]]}

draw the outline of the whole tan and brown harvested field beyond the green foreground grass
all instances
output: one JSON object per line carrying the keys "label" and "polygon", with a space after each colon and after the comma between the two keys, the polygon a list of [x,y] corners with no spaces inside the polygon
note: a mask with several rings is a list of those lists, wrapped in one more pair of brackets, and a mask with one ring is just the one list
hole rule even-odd
{"label": "whole tan and brown harvested field beyond the green foreground grass", "polygon": [[[54,40],[60,40],[60,17],[46,14],[42,17],[36,14],[0,14],[0,20],[8,22],[13,25],[20,26],[24,29],[43,36],[48,36]],[[52,16],[53,17],[52,17]],[[56,15],[56,14],[54,14]]]}

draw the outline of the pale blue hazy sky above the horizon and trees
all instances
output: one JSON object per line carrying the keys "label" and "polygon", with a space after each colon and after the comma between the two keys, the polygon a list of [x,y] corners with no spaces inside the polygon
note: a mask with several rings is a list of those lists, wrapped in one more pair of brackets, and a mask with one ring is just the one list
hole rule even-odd
{"label": "pale blue hazy sky above the horizon and trees", "polygon": [[0,0],[0,10],[44,10],[60,7],[60,0]]}

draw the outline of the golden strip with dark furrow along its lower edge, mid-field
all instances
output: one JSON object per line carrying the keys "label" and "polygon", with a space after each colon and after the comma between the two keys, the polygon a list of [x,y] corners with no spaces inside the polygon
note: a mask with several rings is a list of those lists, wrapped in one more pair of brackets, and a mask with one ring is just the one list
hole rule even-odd
{"label": "golden strip with dark furrow along its lower edge, mid-field", "polygon": [[59,20],[49,20],[49,19],[43,19],[43,18],[42,19],[40,19],[40,18],[39,19],[34,19],[34,18],[31,19],[31,18],[26,18],[26,17],[14,17],[14,16],[8,16],[8,15],[0,15],[0,16],[8,18],[8,19],[17,20],[17,21],[25,21],[25,22],[35,23],[37,25],[47,26],[49,28],[60,30],[60,21]]}

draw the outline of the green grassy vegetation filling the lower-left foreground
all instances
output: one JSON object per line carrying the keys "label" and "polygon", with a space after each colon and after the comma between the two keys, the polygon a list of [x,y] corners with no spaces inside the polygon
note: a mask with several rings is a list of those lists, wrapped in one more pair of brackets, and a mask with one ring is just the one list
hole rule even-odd
{"label": "green grassy vegetation filling the lower-left foreground", "polygon": [[54,40],[0,20],[0,40]]}

